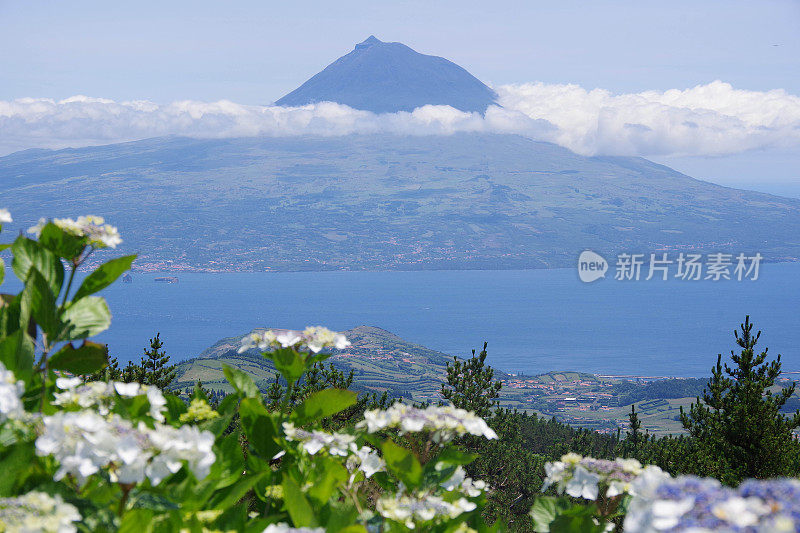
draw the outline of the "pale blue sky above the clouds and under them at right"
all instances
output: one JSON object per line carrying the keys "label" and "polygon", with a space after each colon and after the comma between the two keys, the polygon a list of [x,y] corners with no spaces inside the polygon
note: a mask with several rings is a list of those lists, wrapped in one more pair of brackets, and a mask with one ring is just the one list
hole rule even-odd
{"label": "pale blue sky above the clouds and under them at right", "polygon": [[[638,93],[722,80],[800,95],[798,1],[0,0],[0,100],[83,94],[265,105],[370,34],[447,57],[493,86]],[[800,194],[794,146],[651,158]]]}

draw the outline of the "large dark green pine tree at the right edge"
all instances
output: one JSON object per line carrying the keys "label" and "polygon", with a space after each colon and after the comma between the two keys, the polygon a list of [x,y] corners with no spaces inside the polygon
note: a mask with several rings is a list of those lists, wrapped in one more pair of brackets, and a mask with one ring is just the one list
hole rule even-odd
{"label": "large dark green pine tree at the right edge", "polygon": [[756,353],[761,332],[753,335],[750,317],[734,331],[740,353],[731,351],[733,366],[722,355],[711,370],[702,401],[697,398],[681,422],[695,441],[702,469],[727,484],[745,478],[767,478],[797,473],[793,464],[798,444],[792,432],[800,426],[800,412],[788,418],[780,410],[795,384],[770,391],[781,373],[781,356],[767,362],[767,350]]}

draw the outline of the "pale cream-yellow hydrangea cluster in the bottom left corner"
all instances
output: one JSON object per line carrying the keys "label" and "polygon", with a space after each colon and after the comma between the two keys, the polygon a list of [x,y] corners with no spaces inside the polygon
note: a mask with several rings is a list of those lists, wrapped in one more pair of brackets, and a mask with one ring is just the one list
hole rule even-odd
{"label": "pale cream-yellow hydrangea cluster in the bottom left corner", "polygon": [[3,531],[72,533],[81,519],[74,505],[61,496],[29,492],[17,498],[0,498],[0,528]]}

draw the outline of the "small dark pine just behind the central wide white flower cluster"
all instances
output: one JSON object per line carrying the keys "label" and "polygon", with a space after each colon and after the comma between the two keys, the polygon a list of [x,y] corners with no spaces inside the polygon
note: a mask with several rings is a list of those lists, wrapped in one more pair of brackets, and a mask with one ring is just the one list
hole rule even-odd
{"label": "small dark pine just behind the central wide white flower cluster", "polygon": [[447,363],[447,384],[442,385],[442,396],[461,409],[473,411],[481,417],[488,417],[497,406],[502,383],[494,381],[494,369],[486,364],[486,343],[483,350],[466,361],[453,357]]}

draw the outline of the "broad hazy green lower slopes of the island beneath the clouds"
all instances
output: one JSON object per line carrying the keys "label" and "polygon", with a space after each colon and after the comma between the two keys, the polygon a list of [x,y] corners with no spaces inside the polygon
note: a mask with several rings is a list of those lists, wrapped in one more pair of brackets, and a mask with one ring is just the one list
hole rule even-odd
{"label": "broad hazy green lower slopes of the island beneath the clouds", "polygon": [[798,199],[514,135],[28,152],[0,157],[0,198],[13,206],[9,231],[91,205],[119,227],[120,251],[159,272],[575,268],[587,249],[800,260]]}

